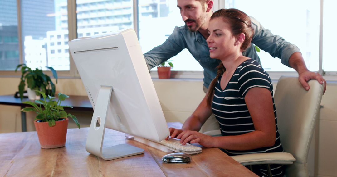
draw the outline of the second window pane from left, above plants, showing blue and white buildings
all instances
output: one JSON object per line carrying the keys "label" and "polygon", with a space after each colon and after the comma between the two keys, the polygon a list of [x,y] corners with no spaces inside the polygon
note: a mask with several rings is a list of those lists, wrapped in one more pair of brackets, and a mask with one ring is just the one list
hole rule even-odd
{"label": "second window pane from left, above plants, showing blue and white buildings", "polygon": [[[41,67],[43,70],[45,66],[52,66],[59,61],[53,60],[48,54],[54,54],[53,57],[63,57],[69,60],[69,56],[61,56],[55,53],[64,48],[61,42],[55,40],[62,40],[61,37],[68,35],[68,24],[62,23],[62,20],[67,17],[67,1],[43,1],[43,0],[21,0],[22,8],[22,36],[24,41],[24,58],[23,61],[32,61],[27,63],[31,68]],[[56,39],[55,39],[56,37]],[[46,48],[41,46],[46,45]],[[53,50],[50,46],[53,46]],[[50,51],[50,52],[49,52]],[[40,53],[42,55],[40,55]],[[40,62],[42,61],[42,62]],[[62,64],[57,66],[56,70],[69,70],[69,64]]]}

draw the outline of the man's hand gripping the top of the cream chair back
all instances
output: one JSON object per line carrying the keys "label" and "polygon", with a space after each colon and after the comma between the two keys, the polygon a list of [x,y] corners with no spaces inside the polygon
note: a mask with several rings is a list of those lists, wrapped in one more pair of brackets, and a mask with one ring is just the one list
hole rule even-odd
{"label": "man's hand gripping the top of the cream chair back", "polygon": [[[304,71],[299,74],[298,80],[302,84],[303,88],[308,91],[310,89],[309,84],[307,83],[309,80],[315,79],[317,80],[320,84],[324,84],[324,92],[327,88],[327,81],[324,80],[323,76],[320,75],[319,73],[314,73],[309,70]],[[323,93],[324,93],[323,92]]]}

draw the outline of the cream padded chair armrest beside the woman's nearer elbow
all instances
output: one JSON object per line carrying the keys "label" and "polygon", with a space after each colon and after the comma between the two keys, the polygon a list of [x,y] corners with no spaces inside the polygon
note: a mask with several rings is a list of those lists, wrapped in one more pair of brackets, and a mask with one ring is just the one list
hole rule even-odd
{"label": "cream padded chair armrest beside the woman's nearer elbow", "polygon": [[296,159],[289,153],[254,153],[231,156],[234,160],[246,165],[255,164],[293,164]]}

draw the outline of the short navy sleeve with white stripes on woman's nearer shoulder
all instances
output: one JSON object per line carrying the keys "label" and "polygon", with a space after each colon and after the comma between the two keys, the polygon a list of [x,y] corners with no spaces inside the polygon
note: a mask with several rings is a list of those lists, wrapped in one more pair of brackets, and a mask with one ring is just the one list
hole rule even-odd
{"label": "short navy sleeve with white stripes on woman's nearer shoulder", "polygon": [[255,64],[249,63],[243,66],[239,72],[239,91],[243,97],[246,96],[250,88],[263,87],[271,91],[269,75],[264,69]]}

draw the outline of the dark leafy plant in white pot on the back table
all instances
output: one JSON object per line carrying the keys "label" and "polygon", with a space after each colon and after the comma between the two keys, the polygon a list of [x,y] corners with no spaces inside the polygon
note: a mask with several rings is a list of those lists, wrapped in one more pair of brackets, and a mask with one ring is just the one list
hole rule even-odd
{"label": "dark leafy plant in white pot on the back table", "polygon": [[[34,90],[42,91],[47,95],[54,96],[55,95],[55,84],[50,79],[47,74],[44,74],[41,69],[36,68],[32,70],[26,64],[19,64],[15,71],[17,71],[21,67],[21,79],[19,84],[19,94],[20,99],[23,98],[23,92],[27,82],[27,93],[29,100],[38,100],[39,95],[36,97],[34,94]],[[57,83],[57,73],[53,67],[47,67],[53,73],[54,78]]]}

